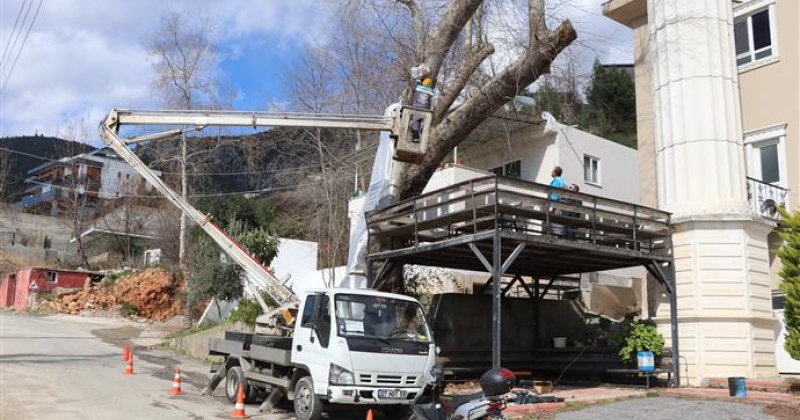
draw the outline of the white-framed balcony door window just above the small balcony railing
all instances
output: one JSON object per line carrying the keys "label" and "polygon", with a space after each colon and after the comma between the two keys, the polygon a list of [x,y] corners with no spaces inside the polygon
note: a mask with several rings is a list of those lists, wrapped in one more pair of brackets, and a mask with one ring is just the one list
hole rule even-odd
{"label": "white-framed balcony door window just above the small balcony railing", "polygon": [[749,176],[766,184],[786,185],[786,125],[745,134]]}

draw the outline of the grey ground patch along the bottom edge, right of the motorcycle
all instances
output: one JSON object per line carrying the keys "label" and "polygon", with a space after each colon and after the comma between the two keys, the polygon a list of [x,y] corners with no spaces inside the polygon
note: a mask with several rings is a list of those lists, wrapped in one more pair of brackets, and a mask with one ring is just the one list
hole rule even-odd
{"label": "grey ground patch along the bottom edge, right of the motorcycle", "polygon": [[675,419],[774,419],[761,406],[725,401],[697,401],[651,397],[602,404],[556,415],[557,420],[675,420]]}

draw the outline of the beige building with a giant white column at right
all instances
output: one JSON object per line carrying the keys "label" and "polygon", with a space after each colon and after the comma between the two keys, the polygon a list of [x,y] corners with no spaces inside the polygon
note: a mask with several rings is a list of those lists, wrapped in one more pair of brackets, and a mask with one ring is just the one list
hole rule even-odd
{"label": "beige building with a giant white column at right", "polygon": [[690,221],[676,229],[681,347],[697,378],[798,374],[783,349],[775,208],[800,209],[800,2],[691,3],[603,5],[633,30],[642,203]]}

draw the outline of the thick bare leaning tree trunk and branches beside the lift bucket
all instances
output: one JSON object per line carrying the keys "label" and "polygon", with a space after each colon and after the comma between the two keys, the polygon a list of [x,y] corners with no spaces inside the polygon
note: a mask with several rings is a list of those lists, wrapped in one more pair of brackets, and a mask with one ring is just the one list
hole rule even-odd
{"label": "thick bare leaning tree trunk and branches beside the lift bucket", "polygon": [[[416,0],[395,1],[410,13],[416,58],[420,65],[429,69],[434,84],[441,91],[433,108],[425,157],[420,164],[404,165],[400,171],[397,191],[398,198],[404,199],[419,194],[447,154],[478,125],[541,75],[548,73],[553,60],[575,40],[577,34],[569,20],[562,21],[554,30],[548,29],[545,0],[528,0],[527,40],[521,54],[493,76],[476,77],[478,73],[484,73],[480,70],[481,65],[495,53],[494,46],[486,38],[478,38],[477,45],[462,54],[457,69],[444,84],[439,83],[440,79],[442,82],[445,79],[443,65],[460,35],[465,29],[470,29],[476,13],[481,13],[484,1],[450,0],[431,31],[426,30],[430,22]],[[472,92],[465,96],[465,87],[476,79],[485,81],[473,86]],[[412,89],[410,81],[404,93],[407,100]],[[462,102],[454,107],[459,99]]]}

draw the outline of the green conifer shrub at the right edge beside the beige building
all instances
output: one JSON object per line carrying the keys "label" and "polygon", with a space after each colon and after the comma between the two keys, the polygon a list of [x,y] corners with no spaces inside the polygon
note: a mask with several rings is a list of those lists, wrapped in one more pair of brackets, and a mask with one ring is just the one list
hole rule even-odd
{"label": "green conifer shrub at the right edge beside the beige building", "polygon": [[778,257],[783,263],[781,290],[786,293],[783,310],[786,323],[784,348],[793,359],[800,360],[800,211],[789,213],[780,209],[780,212],[783,246],[778,250]]}

